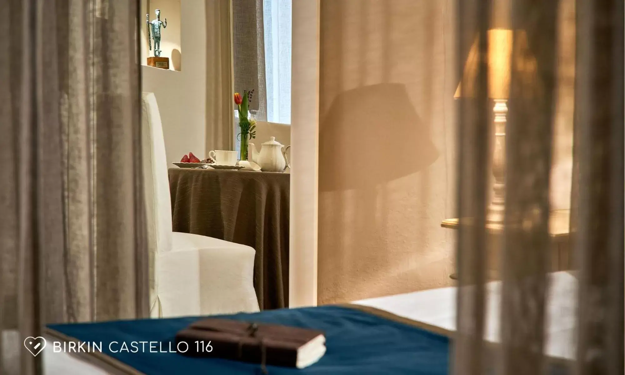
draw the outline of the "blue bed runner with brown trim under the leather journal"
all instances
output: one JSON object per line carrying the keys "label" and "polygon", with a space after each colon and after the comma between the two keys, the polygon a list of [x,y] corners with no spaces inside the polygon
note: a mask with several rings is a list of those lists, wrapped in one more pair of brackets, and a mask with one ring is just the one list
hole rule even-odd
{"label": "blue bed runner with brown trim under the leather journal", "polygon": [[[447,374],[449,339],[446,336],[410,324],[407,319],[381,315],[384,314],[352,307],[319,306],[224,317],[314,328],[326,333],[327,351],[319,362],[305,369],[267,366],[270,375]],[[198,319],[202,317],[53,324],[48,328],[77,341],[101,343],[103,354],[146,375],[258,373],[256,364],[168,352],[170,345],[176,348],[176,332]],[[146,341],[159,344],[153,344],[152,349],[149,344],[143,344],[143,348],[137,344],[137,352],[121,350],[124,343],[129,351],[134,351],[132,342]]]}

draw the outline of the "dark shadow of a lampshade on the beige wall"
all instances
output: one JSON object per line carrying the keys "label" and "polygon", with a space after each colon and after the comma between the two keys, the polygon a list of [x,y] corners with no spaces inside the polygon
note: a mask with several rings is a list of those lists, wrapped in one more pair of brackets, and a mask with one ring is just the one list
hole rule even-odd
{"label": "dark shadow of a lampshade on the beige wall", "polygon": [[378,186],[416,173],[439,156],[404,84],[345,91],[319,124],[319,191]]}

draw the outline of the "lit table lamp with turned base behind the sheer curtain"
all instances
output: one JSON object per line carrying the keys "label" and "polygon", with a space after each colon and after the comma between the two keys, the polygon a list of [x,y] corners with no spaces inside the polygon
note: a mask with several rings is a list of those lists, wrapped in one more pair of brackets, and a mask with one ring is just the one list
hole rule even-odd
{"label": "lit table lamp with turned base behind the sheer curtain", "polygon": [[[488,98],[494,101],[494,152],[492,155],[492,187],[491,204],[486,219],[489,222],[502,222],[504,217],[504,182],[506,176],[506,114],[508,91],[510,86],[510,61],[512,54],[512,30],[491,29],[488,38]],[[479,61],[478,41],[473,42],[466,63],[464,64],[463,80],[456,89],[454,99],[474,97],[474,84]],[[466,88],[461,88],[462,82]]]}

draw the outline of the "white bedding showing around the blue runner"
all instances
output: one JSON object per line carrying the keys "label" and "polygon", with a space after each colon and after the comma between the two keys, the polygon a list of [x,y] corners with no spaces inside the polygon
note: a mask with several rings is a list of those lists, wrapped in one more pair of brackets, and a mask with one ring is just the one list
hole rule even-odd
{"label": "white bedding showing around the blue runner", "polygon": [[[486,339],[498,340],[499,289],[501,282],[489,282]],[[574,357],[574,317],[576,310],[577,280],[567,272],[551,275],[549,292],[547,354],[556,357]],[[456,287],[443,287],[427,291],[397,294],[355,301],[355,304],[377,307],[393,314],[408,317],[433,326],[454,330],[456,327]],[[42,353],[46,374],[106,375],[93,364],[64,353],[55,353],[47,346]]]}

